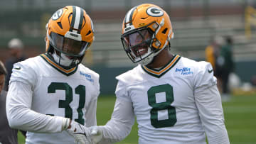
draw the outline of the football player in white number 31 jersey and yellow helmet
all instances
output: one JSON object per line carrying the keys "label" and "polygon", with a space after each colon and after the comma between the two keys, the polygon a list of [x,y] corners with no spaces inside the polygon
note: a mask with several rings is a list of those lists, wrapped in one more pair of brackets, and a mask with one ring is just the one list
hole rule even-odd
{"label": "football player in white number 31 jersey and yellow helmet", "polygon": [[14,65],[6,112],[26,143],[90,143],[99,74],[80,64],[94,40],[84,9],[65,6],[46,24],[46,53]]}

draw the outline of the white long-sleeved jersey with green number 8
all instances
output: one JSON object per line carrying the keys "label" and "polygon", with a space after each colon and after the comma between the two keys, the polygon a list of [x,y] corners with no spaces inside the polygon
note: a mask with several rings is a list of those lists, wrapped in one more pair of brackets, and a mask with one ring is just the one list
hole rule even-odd
{"label": "white long-sleeved jersey with green number 8", "polygon": [[210,63],[175,55],[160,70],[138,65],[117,79],[112,119],[102,126],[105,139],[122,140],[136,116],[139,144],[205,144],[206,135],[209,143],[229,143]]}

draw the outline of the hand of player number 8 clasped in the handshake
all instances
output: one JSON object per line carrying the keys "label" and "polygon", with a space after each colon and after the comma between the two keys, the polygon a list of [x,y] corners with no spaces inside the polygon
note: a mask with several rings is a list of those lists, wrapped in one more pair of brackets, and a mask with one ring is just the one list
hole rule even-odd
{"label": "hand of player number 8 clasped in the handshake", "polygon": [[99,126],[92,126],[90,129],[90,138],[92,140],[93,144],[97,144],[102,140],[103,138],[103,132],[102,129]]}

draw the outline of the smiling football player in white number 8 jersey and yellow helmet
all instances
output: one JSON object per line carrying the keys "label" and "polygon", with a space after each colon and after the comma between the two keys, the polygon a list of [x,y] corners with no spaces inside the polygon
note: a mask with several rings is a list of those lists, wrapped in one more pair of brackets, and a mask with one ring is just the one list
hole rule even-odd
{"label": "smiling football player in white number 8 jersey and yellow helmet", "polygon": [[153,4],[128,11],[122,23],[124,51],[137,67],[117,77],[116,102],[92,141],[113,143],[131,131],[134,116],[139,144],[229,143],[220,94],[208,62],[169,51],[174,31],[167,13]]}

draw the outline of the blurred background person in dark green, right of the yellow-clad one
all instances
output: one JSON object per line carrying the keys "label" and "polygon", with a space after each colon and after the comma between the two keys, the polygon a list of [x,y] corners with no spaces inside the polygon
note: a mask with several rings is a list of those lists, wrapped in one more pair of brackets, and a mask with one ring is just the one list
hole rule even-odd
{"label": "blurred background person in dark green, right of the yellow-clad one", "polygon": [[233,39],[225,36],[225,43],[220,47],[220,55],[217,57],[216,64],[217,78],[220,80],[221,96],[223,101],[230,100],[230,89],[228,81],[230,73],[234,71],[233,62]]}

